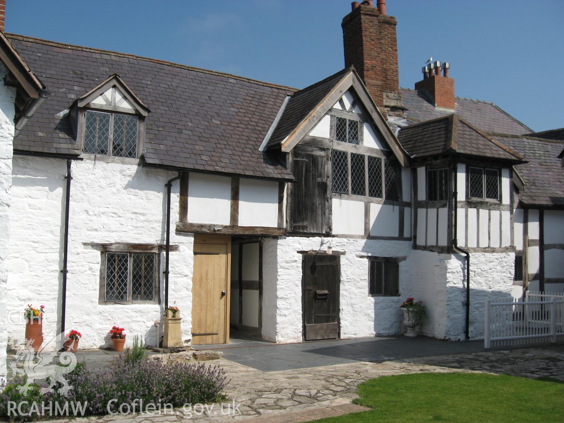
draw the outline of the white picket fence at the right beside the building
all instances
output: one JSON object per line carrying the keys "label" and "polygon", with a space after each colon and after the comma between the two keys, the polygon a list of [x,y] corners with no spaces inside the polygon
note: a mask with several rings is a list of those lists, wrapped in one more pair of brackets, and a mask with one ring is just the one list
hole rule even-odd
{"label": "white picket fence at the right beside the building", "polygon": [[525,299],[486,300],[484,347],[564,341],[564,295],[527,291]]}

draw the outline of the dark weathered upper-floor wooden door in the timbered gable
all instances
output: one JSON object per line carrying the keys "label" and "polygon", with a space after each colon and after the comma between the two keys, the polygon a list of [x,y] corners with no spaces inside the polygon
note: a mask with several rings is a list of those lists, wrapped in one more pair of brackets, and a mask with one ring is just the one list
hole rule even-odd
{"label": "dark weathered upper-floor wooden door in the timbered gable", "polygon": [[325,152],[294,151],[294,178],[289,228],[293,232],[327,233],[327,157]]}

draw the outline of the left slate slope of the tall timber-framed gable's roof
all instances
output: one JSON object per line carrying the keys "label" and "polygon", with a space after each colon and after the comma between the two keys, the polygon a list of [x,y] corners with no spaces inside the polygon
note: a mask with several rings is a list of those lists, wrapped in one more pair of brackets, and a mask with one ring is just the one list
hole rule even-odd
{"label": "left slate slope of the tall timber-framed gable's roof", "polygon": [[276,146],[283,142],[349,71],[350,69],[342,69],[322,81],[294,92],[266,146]]}

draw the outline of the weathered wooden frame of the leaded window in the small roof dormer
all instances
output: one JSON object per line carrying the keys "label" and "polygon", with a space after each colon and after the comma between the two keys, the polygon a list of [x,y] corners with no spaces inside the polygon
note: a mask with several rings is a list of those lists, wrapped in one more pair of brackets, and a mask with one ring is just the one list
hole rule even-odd
{"label": "weathered wooden frame of the leaded window in the small roof dormer", "polygon": [[[85,136],[86,136],[86,113],[87,112],[96,112],[96,113],[106,113],[110,115],[110,124],[109,124],[109,137],[108,137],[108,154],[100,154],[100,153],[88,153],[84,151],[84,143],[85,143]],[[114,115],[122,114],[124,116],[133,116],[137,118],[137,143],[135,148],[135,157],[123,157],[123,156],[114,156],[113,152],[113,121]],[[142,116],[135,113],[124,113],[121,111],[112,111],[109,109],[98,109],[94,107],[89,108],[82,108],[79,112],[79,121],[80,124],[78,126],[78,139],[80,142],[80,151],[81,155],[86,158],[98,158],[98,157],[108,157],[112,161],[122,161],[127,164],[130,163],[137,163],[139,158],[142,156],[144,152],[144,134],[145,134],[145,120]]]}

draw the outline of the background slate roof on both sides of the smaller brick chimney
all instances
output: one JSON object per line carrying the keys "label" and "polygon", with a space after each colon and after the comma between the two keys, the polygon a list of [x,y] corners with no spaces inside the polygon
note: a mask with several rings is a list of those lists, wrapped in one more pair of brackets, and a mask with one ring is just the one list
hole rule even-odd
{"label": "background slate roof on both sides of the smaller brick chimney", "polygon": [[[400,92],[403,94],[403,105],[408,109],[406,114],[409,124],[428,121],[452,113],[452,111],[435,108],[425,96],[418,94],[416,90],[402,88]],[[522,124],[493,103],[456,97],[455,112],[484,132],[512,135],[532,132],[530,127]]]}

